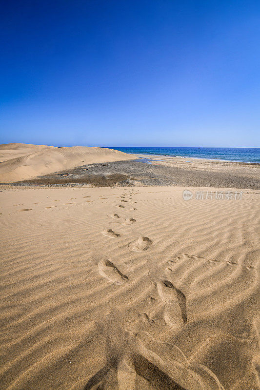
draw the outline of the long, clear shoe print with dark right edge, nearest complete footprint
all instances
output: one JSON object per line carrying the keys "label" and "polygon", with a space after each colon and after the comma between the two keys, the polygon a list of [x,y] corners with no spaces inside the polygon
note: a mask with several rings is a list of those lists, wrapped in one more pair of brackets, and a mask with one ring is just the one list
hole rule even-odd
{"label": "long, clear shoe print with dark right edge, nearest complete footprint", "polygon": [[185,295],[167,279],[159,280],[157,292],[165,304],[164,321],[171,328],[179,331],[187,323]]}

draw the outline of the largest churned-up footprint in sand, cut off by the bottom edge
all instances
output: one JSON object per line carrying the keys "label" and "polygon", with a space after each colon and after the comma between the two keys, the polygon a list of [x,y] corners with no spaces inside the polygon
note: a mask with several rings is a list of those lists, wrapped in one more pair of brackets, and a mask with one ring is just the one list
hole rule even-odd
{"label": "largest churned-up footprint in sand, cut off by the bottom edge", "polygon": [[159,341],[147,331],[132,333],[125,328],[120,312],[110,312],[100,321],[104,365],[94,371],[83,390],[224,390],[211,370],[190,363],[176,345]]}

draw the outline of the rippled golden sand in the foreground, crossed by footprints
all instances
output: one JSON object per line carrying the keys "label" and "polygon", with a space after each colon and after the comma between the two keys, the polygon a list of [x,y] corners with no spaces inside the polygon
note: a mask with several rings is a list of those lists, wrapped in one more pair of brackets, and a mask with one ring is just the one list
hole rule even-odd
{"label": "rippled golden sand in the foreground, crossed by footprints", "polygon": [[260,388],[260,192],[182,191],[0,192],[1,389]]}

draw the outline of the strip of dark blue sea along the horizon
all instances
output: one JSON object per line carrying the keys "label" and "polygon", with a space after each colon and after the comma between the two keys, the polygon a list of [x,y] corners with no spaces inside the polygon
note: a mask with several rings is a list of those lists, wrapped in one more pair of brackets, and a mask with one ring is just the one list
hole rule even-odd
{"label": "strip of dark blue sea along the horizon", "polygon": [[177,156],[260,163],[260,148],[145,148],[112,147],[137,155]]}

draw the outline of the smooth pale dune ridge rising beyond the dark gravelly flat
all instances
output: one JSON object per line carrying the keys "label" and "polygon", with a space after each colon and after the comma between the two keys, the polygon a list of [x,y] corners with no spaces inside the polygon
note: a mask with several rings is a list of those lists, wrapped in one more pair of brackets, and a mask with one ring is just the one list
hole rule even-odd
{"label": "smooth pale dune ridge rising beyond the dark gravelly flat", "polygon": [[10,143],[0,145],[0,182],[15,182],[80,165],[131,160],[118,150],[89,146],[55,146]]}

